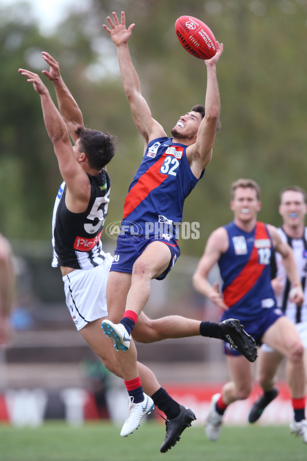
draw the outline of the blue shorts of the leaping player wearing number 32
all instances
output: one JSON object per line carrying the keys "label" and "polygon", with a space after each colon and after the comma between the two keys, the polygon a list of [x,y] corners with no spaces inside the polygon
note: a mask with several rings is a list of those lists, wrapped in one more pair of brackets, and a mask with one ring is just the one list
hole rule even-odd
{"label": "blue shorts of the leaping player wearing number 32", "polygon": [[124,234],[117,239],[117,246],[110,271],[132,274],[134,263],[144,252],[144,249],[152,242],[163,242],[170,249],[171,258],[169,266],[163,274],[157,277],[157,280],[163,280],[180,256],[178,241],[173,237],[169,240],[156,238],[155,235],[149,237],[140,235],[138,237],[131,238],[129,234]]}

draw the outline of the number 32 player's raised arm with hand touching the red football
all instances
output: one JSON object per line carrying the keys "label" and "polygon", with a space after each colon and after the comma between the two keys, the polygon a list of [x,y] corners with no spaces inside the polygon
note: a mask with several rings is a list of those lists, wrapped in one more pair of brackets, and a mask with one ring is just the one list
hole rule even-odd
{"label": "number 32 player's raised arm with hand touching the red football", "polygon": [[211,59],[206,59],[207,90],[205,100],[205,117],[203,118],[195,144],[188,146],[187,157],[191,170],[196,177],[209,164],[212,157],[212,147],[215,139],[218,117],[220,116],[220,93],[216,77],[216,63],[223,53],[223,44],[216,42],[216,53]]}

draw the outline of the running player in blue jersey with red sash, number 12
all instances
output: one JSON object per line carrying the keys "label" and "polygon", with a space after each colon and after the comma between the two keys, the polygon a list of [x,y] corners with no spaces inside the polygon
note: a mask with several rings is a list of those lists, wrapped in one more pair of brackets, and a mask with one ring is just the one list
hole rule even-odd
{"label": "running player in blue jersey with red sash, number 12", "polygon": [[[257,343],[265,342],[287,358],[287,379],[292,394],[294,418],[291,431],[307,443],[305,420],[303,344],[293,322],[276,305],[271,285],[270,262],[273,249],[282,258],[293,287],[292,301],[303,302],[303,291],[291,247],[276,227],[257,221],[260,191],[255,181],[239,179],[232,184],[231,209],[234,220],[219,227],[209,237],[205,252],[193,276],[194,287],[223,309],[222,319],[235,317]],[[217,263],[223,279],[222,294],[207,281]],[[247,399],[253,373],[249,362],[225,343],[225,353],[233,380],[221,393],[212,396],[206,434],[210,440],[220,435],[223,414],[229,404]]]}

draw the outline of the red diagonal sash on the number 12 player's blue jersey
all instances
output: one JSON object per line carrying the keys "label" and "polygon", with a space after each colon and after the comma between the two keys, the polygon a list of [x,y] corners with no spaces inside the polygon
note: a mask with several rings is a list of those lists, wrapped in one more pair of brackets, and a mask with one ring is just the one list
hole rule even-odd
{"label": "red diagonal sash on the number 12 player's blue jersey", "polygon": [[[256,223],[254,240],[258,239],[270,239],[266,225],[259,221]],[[265,264],[258,263],[258,252],[254,245],[246,265],[223,291],[225,304],[231,307],[242,299],[253,288],[265,267]]]}

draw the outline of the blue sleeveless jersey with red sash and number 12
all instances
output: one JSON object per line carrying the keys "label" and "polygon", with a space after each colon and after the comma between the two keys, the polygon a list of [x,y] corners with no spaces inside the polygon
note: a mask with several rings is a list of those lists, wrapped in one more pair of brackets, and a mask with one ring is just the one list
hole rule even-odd
{"label": "blue sleeveless jersey with red sash and number 12", "polygon": [[223,279],[223,296],[229,310],[223,318],[244,322],[258,318],[263,309],[276,306],[271,286],[272,240],[266,224],[257,222],[252,232],[234,222],[224,226],[229,247],[218,261]]}

